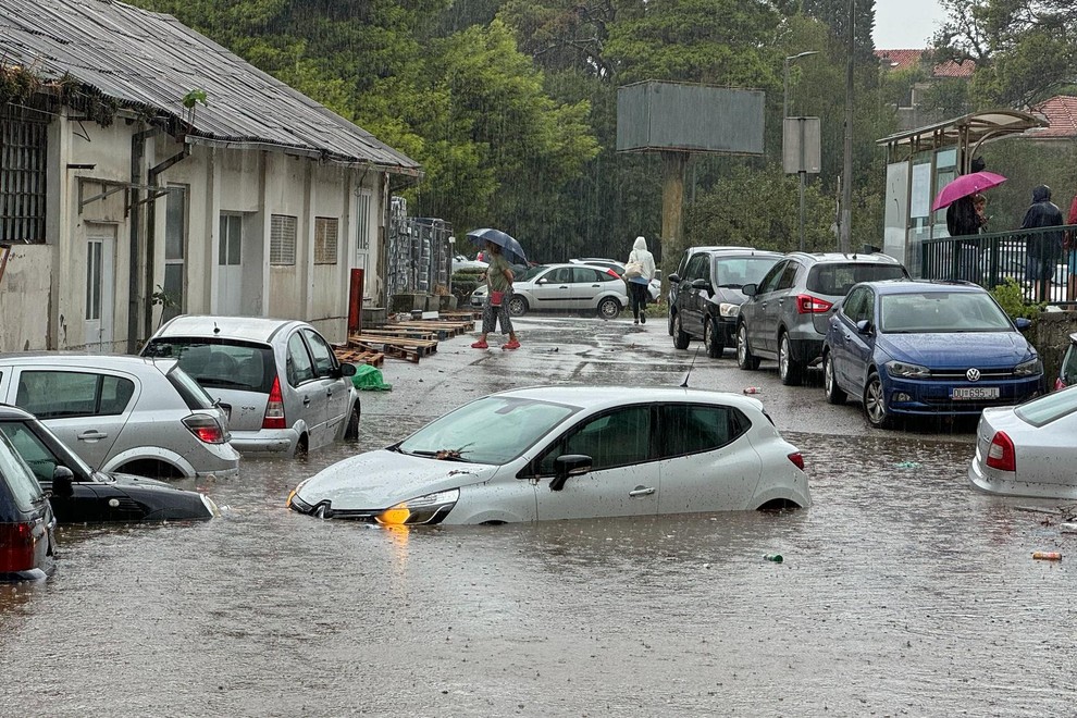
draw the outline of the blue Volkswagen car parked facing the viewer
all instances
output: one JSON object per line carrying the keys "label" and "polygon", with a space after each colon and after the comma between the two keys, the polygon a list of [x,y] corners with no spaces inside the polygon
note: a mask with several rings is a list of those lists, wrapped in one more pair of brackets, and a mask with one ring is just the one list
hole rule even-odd
{"label": "blue Volkswagen car parked facing the viewer", "polygon": [[976,416],[1042,391],[1043,363],[980,286],[888,281],[855,285],[822,346],[827,401],[859,399],[872,426],[899,414]]}

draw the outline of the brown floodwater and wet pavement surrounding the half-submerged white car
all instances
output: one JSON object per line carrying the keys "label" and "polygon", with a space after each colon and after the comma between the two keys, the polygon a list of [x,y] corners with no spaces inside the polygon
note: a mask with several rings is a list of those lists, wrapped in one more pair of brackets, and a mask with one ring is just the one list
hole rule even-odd
{"label": "brown floodwater and wet pavement surrounding the half-submerged white car", "polygon": [[[970,491],[973,426],[870,430],[660,322],[518,329],[516,352],[387,360],[358,444],[245,460],[201,486],[222,519],[64,530],[54,577],[0,586],[0,715],[1073,714],[1068,507]],[[474,396],[680,383],[693,356],[693,386],[760,387],[810,509],[409,532],[284,508]]]}

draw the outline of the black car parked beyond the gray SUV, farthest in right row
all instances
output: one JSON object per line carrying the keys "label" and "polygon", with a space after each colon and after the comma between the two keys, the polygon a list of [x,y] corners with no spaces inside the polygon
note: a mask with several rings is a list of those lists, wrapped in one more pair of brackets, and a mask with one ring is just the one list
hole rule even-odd
{"label": "black car parked beyond the gray SUV, farthest in right row", "polygon": [[692,339],[703,339],[707,355],[720,357],[733,346],[736,315],[744,301],[741,288],[758,284],[781,252],[743,247],[722,247],[693,252],[683,273],[669,275],[677,284],[673,306],[673,346],[688,349]]}

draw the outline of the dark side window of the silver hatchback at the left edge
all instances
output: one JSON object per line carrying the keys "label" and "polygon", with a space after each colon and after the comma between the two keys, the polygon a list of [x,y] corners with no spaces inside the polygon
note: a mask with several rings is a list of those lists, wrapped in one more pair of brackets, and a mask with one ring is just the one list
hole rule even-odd
{"label": "dark side window of the silver hatchback at the left edge", "polygon": [[15,405],[38,419],[123,413],[135,395],[129,379],[73,371],[24,371]]}

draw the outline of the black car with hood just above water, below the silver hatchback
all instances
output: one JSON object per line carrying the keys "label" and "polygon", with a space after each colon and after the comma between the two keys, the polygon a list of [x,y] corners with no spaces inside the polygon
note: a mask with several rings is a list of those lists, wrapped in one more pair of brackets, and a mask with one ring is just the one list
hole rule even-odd
{"label": "black car with hood just above water, below the silver hatchback", "polygon": [[60,523],[209,519],[208,496],[132,474],[94,471],[34,414],[0,405],[2,434],[33,471]]}

